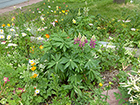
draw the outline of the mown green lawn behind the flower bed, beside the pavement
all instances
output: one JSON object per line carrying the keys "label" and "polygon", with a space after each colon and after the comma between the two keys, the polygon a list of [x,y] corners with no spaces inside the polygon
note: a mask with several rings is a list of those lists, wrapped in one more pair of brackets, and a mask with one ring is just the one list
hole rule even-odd
{"label": "mown green lawn behind the flower bed, beside the pavement", "polygon": [[[69,6],[69,9],[78,10],[78,8],[83,8],[86,6],[84,1],[85,0],[66,0],[65,3]],[[28,14],[30,8],[32,10],[36,10],[36,8],[46,8],[45,5],[43,5],[44,2],[45,0],[30,6],[23,7],[22,11]],[[64,8],[63,2],[63,0],[55,0],[54,3],[51,3],[51,7],[55,8],[56,6],[61,6]],[[116,4],[113,3],[113,0],[87,0],[87,3],[87,6],[90,9],[89,15],[101,14],[102,16],[108,18],[125,19],[127,16],[132,17],[135,14],[140,14],[140,0],[135,0],[133,4],[130,4],[129,2],[126,4]],[[16,11],[18,11],[18,9],[12,12],[0,14],[0,24],[8,23],[12,16],[16,15]]]}

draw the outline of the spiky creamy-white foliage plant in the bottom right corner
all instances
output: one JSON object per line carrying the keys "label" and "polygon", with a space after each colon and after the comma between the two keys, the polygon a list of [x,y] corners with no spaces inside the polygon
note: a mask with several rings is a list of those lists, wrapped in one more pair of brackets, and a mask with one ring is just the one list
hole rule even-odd
{"label": "spiky creamy-white foliage plant in the bottom right corner", "polygon": [[[135,72],[135,71],[132,71]],[[129,80],[127,83],[120,83],[122,87],[127,88],[128,94],[131,95],[129,98],[130,103],[136,103],[139,105],[139,99],[140,99],[140,70],[138,72],[135,72],[137,75],[131,75],[129,74]]]}

